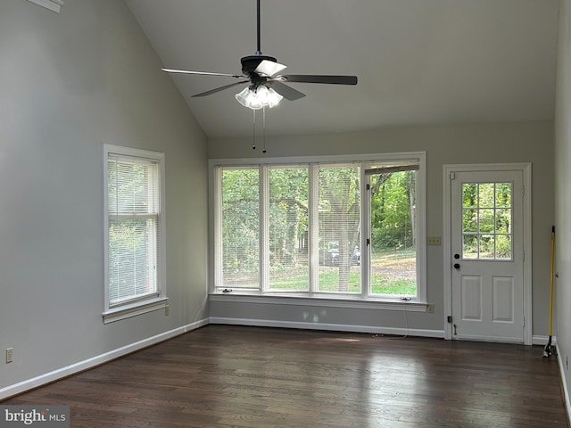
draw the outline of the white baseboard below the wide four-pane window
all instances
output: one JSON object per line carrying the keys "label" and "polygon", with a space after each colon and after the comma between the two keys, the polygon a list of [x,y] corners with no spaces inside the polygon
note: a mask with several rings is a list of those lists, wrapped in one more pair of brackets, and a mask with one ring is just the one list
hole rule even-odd
{"label": "white baseboard below the wide four-pane window", "polygon": [[247,319],[247,318],[226,318],[211,317],[211,324],[228,325],[252,325],[257,327],[281,327],[281,328],[301,328],[305,330],[329,330],[335,332],[352,333],[372,333],[372,334],[393,334],[398,336],[422,336],[444,338],[443,330],[420,330],[413,328],[393,328],[377,327],[374,325],[344,325],[344,324],[324,324],[324,323],[300,323],[293,321],[273,321],[269,319]]}

